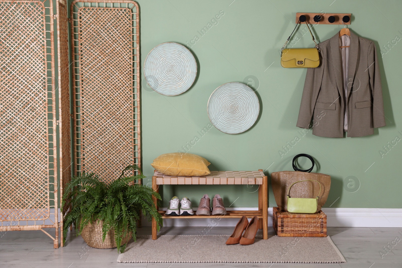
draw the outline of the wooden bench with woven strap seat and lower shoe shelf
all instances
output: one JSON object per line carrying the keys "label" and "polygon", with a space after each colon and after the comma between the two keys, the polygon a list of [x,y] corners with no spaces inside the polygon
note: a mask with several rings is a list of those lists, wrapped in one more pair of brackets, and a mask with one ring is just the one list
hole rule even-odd
{"label": "wooden bench with woven strap seat and lower shoe shelf", "polygon": [[[257,216],[260,221],[260,228],[263,229],[263,239],[268,239],[268,177],[263,170],[258,171],[211,171],[211,174],[202,177],[173,177],[165,176],[155,170],[152,176],[152,189],[159,192],[159,185],[185,184],[185,185],[258,185],[258,210],[250,211],[227,211],[226,215],[191,215],[191,216],[166,216],[163,210],[159,210],[156,204],[156,197],[152,196],[158,212],[163,219],[201,219],[201,218],[241,218],[246,216],[252,218]],[[157,239],[156,221],[152,219],[152,239]]]}

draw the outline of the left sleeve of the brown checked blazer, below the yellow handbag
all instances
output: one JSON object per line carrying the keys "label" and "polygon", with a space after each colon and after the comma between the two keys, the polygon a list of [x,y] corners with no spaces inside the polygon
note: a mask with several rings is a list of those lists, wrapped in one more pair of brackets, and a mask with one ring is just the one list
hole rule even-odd
{"label": "left sleeve of the brown checked blazer, below the yellow handbag", "polygon": [[322,61],[322,57],[320,58],[321,63],[317,68],[307,69],[296,127],[301,127],[303,129],[309,129],[312,127],[311,119],[313,117],[314,107],[316,106],[318,93],[321,89],[322,76],[324,74],[324,62]]}

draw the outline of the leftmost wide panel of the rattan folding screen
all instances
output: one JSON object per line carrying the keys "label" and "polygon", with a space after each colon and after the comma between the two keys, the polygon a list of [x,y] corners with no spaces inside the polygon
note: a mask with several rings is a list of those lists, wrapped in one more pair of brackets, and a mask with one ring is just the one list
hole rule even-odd
{"label": "leftmost wide panel of the rattan folding screen", "polygon": [[53,2],[0,0],[0,13],[0,231],[42,230],[58,248]]}

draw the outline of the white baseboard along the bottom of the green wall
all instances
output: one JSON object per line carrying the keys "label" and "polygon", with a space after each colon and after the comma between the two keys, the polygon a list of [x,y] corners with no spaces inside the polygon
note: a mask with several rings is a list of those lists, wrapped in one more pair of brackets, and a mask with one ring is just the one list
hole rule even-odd
{"label": "white baseboard along the bottom of the green wall", "polygon": [[[166,208],[162,208],[166,210]],[[255,207],[227,210],[257,210]],[[327,215],[327,227],[402,227],[402,209],[322,208]],[[219,219],[219,226],[235,226],[238,219]],[[216,226],[217,219],[164,219],[163,226]],[[146,221],[143,226],[151,226]],[[272,226],[272,208],[268,208],[268,226]]]}

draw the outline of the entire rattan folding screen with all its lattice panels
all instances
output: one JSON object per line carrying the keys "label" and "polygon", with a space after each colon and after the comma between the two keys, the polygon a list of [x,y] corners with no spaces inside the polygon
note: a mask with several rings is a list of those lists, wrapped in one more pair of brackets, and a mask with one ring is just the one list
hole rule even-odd
{"label": "entire rattan folding screen with all its lattice panels", "polygon": [[69,210],[62,208],[59,226],[57,157],[59,196],[72,173],[110,182],[141,165],[138,5],[74,1],[68,18],[67,4],[57,0],[53,14],[50,0],[0,0],[0,231],[42,230],[54,248]]}

